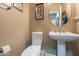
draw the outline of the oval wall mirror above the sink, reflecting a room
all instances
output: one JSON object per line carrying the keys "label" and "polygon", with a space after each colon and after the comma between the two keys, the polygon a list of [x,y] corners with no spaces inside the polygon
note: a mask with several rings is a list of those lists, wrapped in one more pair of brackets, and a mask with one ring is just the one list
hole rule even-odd
{"label": "oval wall mirror above the sink, reflecting a room", "polygon": [[49,8],[49,19],[56,26],[63,26],[68,22],[71,16],[71,4],[54,3]]}

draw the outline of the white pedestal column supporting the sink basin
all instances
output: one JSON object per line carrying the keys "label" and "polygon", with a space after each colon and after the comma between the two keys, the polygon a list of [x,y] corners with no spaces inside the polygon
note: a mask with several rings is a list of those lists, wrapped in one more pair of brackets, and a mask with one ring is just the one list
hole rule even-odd
{"label": "white pedestal column supporting the sink basin", "polygon": [[57,40],[57,55],[66,56],[66,46],[63,40]]}

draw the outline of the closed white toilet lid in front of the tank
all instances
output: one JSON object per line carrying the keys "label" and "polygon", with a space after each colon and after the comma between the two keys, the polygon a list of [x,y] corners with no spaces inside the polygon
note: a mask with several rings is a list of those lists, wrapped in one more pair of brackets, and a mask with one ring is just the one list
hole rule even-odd
{"label": "closed white toilet lid in front of the tank", "polygon": [[22,56],[36,56],[39,55],[41,51],[40,46],[29,46],[22,52]]}

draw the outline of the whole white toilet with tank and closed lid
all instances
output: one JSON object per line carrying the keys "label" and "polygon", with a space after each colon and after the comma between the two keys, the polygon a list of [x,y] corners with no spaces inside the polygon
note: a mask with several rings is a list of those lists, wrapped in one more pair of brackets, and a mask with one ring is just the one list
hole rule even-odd
{"label": "whole white toilet with tank and closed lid", "polygon": [[42,39],[42,32],[32,32],[32,45],[26,48],[21,56],[40,56]]}

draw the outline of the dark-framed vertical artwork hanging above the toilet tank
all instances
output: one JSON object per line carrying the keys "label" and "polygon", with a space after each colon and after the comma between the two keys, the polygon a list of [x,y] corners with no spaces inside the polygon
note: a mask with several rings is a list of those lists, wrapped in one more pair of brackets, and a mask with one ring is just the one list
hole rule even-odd
{"label": "dark-framed vertical artwork hanging above the toilet tank", "polygon": [[35,19],[36,20],[44,19],[44,4],[43,3],[35,4]]}

